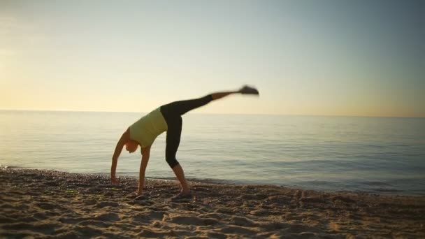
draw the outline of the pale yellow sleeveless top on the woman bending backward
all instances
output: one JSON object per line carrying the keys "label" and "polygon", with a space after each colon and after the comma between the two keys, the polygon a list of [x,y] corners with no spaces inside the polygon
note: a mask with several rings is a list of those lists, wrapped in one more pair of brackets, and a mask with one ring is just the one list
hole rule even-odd
{"label": "pale yellow sleeveless top on the woman bending backward", "polygon": [[155,138],[164,131],[167,131],[167,123],[161,110],[157,108],[151,113],[141,117],[134,124],[131,124],[130,138],[136,140],[141,147],[147,147],[154,143]]}

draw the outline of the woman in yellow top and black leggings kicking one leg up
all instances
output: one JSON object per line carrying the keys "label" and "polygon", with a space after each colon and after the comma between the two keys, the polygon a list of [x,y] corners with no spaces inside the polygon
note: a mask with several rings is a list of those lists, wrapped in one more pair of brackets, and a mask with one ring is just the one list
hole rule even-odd
{"label": "woman in yellow top and black leggings kicking one leg up", "polygon": [[161,106],[151,113],[141,117],[137,122],[131,124],[127,131],[125,131],[120,140],[118,140],[115,152],[112,158],[112,166],[110,168],[110,180],[113,184],[117,184],[115,178],[115,170],[117,168],[118,157],[120,157],[122,148],[126,147],[126,150],[130,153],[135,152],[137,147],[141,146],[141,168],[139,172],[138,191],[137,195],[141,195],[143,191],[143,185],[145,184],[145,170],[147,161],[150,157],[150,147],[154,143],[155,138],[164,131],[167,131],[166,136],[166,162],[173,169],[175,176],[180,181],[182,190],[180,194],[173,198],[185,198],[190,196],[189,185],[185,179],[185,173],[183,172],[182,166],[175,159],[175,154],[180,144],[180,135],[182,132],[182,115],[205,106],[210,101],[221,99],[229,94],[259,94],[257,89],[252,87],[244,86],[238,91],[233,92],[216,92],[203,96],[199,99],[192,99],[187,101],[175,101]]}

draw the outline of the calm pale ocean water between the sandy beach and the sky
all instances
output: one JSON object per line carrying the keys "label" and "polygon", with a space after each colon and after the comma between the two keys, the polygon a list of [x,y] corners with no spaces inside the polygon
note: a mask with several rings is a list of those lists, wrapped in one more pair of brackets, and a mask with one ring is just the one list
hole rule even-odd
{"label": "calm pale ocean water between the sandy beach and the sky", "polygon": [[[0,164],[108,174],[118,138],[141,116],[0,110]],[[425,195],[424,129],[424,118],[189,113],[178,160],[197,180]],[[174,178],[165,135],[148,178]],[[137,176],[140,161],[123,150],[117,175]]]}

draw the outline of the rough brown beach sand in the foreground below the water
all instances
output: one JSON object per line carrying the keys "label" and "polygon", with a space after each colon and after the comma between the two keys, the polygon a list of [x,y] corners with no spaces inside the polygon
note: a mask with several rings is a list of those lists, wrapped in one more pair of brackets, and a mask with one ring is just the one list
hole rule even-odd
{"label": "rough brown beach sand in the foreground below the water", "polygon": [[425,197],[0,169],[0,238],[425,238]]}

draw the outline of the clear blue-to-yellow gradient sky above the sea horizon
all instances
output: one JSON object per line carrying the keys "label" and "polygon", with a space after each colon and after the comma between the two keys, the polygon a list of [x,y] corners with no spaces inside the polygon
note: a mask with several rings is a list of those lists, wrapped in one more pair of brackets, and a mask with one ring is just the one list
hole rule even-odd
{"label": "clear blue-to-yellow gradient sky above the sea horizon", "polygon": [[425,1],[0,1],[0,108],[425,117]]}

